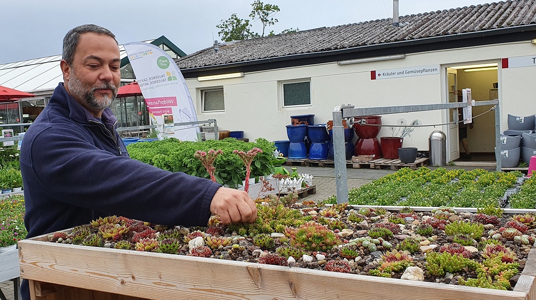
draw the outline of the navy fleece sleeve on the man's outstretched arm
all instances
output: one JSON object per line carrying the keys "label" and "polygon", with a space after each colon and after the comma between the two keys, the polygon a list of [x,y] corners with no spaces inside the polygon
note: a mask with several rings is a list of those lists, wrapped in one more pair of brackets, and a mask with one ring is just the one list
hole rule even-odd
{"label": "navy fleece sleeve on the man's outstretched arm", "polygon": [[157,224],[206,226],[220,184],[116,156],[87,139],[73,128],[48,128],[25,145],[49,197]]}

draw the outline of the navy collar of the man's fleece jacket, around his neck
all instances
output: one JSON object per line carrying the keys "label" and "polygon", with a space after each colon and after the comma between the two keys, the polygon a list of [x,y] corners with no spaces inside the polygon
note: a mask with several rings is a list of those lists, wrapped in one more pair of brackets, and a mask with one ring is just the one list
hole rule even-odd
{"label": "navy collar of the man's fleece jacket, around his neck", "polygon": [[[80,103],[78,103],[75,98],[65,90],[63,82],[60,82],[54,90],[54,93],[50,97],[49,104],[57,104],[65,107],[69,110],[69,119],[81,124],[92,125],[94,122],[99,122],[98,119],[93,117],[84,106],[80,105]],[[106,127],[115,129],[117,118],[114,116],[114,113],[111,112],[109,107],[106,107],[106,109],[102,111],[102,122]]]}

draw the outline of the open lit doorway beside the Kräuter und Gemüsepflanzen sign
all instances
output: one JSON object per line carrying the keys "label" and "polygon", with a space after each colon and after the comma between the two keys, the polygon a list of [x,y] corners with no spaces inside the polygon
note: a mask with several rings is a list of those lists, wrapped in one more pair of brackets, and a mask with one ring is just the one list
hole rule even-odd
{"label": "open lit doorway beside the Kr\u00e4uter und Gem\u00fcsepflanzen sign", "polygon": [[[463,64],[447,68],[449,102],[461,102],[461,91],[471,89],[474,101],[489,101],[498,98],[497,63]],[[495,161],[495,115],[485,113],[488,106],[473,106],[473,124],[449,126],[450,155],[455,161]],[[461,111],[460,111],[461,112]],[[452,110],[449,120],[456,118]]]}

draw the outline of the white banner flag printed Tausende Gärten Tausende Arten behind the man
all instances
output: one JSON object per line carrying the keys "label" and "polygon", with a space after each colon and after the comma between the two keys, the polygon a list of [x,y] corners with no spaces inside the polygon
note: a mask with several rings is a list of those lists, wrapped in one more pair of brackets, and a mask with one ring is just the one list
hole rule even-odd
{"label": "white banner flag printed Tausende G\u00e4rten Tausende Arten behind the man", "polygon": [[182,141],[200,141],[197,124],[173,125],[197,121],[188,87],[175,61],[153,44],[125,43],[123,47],[145,98],[151,124],[163,124],[164,132],[158,134],[159,139],[166,136]]}

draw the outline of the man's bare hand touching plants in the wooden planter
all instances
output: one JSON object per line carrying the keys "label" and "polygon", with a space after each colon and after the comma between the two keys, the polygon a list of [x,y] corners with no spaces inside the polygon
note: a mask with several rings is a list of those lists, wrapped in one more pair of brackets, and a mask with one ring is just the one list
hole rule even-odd
{"label": "man's bare hand touching plants in the wooden planter", "polygon": [[210,212],[220,216],[223,224],[255,222],[257,206],[245,191],[219,188],[212,198]]}

